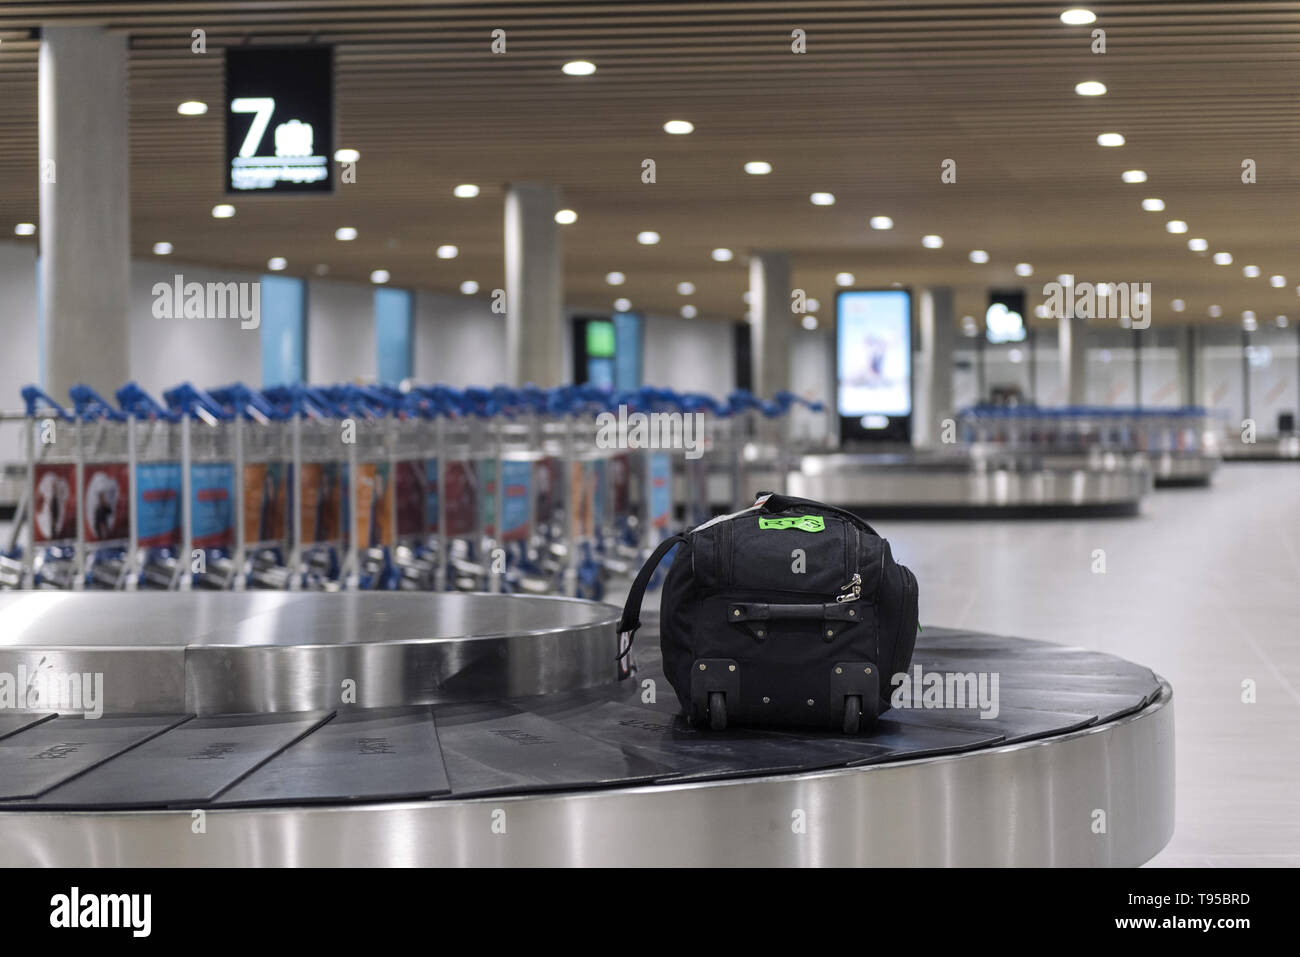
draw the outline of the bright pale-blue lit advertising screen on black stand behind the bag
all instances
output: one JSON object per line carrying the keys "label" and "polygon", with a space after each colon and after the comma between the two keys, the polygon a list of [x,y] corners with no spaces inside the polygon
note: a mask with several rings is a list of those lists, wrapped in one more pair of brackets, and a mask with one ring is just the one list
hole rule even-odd
{"label": "bright pale-blue lit advertising screen on black stand behind the bag", "polygon": [[871,423],[911,415],[911,293],[852,290],[836,296],[836,404]]}

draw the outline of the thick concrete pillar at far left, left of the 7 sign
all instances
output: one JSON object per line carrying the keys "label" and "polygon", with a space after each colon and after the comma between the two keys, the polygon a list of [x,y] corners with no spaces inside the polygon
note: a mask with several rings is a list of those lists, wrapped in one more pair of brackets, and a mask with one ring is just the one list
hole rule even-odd
{"label": "thick concrete pillar at far left, left of the 7 sign", "polygon": [[44,27],[38,101],[42,381],[110,395],[130,378],[126,36]]}

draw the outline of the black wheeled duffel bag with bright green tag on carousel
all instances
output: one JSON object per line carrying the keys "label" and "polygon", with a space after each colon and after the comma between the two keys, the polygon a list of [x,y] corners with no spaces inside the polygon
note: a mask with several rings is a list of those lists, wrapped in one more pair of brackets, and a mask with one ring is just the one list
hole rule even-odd
{"label": "black wheeled duffel bag with bright green tag on carousel", "polygon": [[660,542],[619,623],[628,667],[641,599],[663,557],[663,668],[682,710],[714,729],[870,728],[916,642],[916,577],[858,516],[760,494],[750,508]]}

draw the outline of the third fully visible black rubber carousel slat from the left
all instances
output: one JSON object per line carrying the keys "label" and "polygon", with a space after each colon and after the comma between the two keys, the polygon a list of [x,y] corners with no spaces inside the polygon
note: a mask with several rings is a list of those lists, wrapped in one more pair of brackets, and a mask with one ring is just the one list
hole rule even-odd
{"label": "third fully visible black rubber carousel slat from the left", "polygon": [[671,770],[558,722],[504,705],[439,709],[455,797],[649,783]]}

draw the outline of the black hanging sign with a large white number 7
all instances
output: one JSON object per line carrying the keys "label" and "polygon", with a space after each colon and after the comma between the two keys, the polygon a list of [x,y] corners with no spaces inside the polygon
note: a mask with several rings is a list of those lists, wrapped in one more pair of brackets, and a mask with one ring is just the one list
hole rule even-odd
{"label": "black hanging sign with a large white number 7", "polygon": [[226,192],[330,192],[334,53],[226,49]]}

